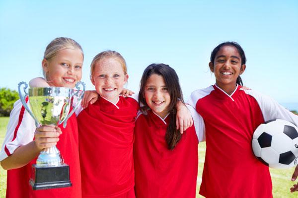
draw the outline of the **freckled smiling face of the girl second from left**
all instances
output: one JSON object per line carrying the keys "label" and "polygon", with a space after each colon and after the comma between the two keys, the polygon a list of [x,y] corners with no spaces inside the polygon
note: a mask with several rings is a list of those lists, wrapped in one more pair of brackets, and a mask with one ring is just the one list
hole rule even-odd
{"label": "freckled smiling face of the girl second from left", "polygon": [[91,80],[101,97],[116,103],[127,79],[128,75],[124,73],[121,63],[111,57],[95,63]]}

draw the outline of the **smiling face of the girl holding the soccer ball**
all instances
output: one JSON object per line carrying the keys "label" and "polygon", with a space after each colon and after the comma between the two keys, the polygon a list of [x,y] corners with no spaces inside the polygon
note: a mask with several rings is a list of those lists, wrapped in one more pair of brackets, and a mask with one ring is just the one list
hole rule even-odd
{"label": "smiling face of the girl holding the soccer ball", "polygon": [[237,77],[245,70],[245,64],[241,65],[241,57],[233,46],[223,46],[215,56],[214,64],[209,63],[214,72],[216,84],[226,93],[231,94],[236,87]]}

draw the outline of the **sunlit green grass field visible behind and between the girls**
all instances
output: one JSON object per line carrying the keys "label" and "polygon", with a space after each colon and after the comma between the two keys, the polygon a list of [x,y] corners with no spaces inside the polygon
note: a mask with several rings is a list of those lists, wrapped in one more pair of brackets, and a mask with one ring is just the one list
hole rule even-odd
{"label": "sunlit green grass field visible behind and between the girls", "polygon": [[[3,138],[6,132],[6,125],[8,123],[7,117],[0,117],[0,145],[2,145]],[[206,144],[205,142],[201,142],[199,144],[199,174],[197,179],[197,198],[203,198],[200,196],[199,189],[201,184],[202,178],[202,171],[204,166],[205,160],[205,149]],[[290,188],[293,184],[297,182],[291,181],[291,176],[293,174],[294,168],[286,169],[286,170],[279,170],[279,169],[270,169],[272,183],[273,183],[273,197],[274,198],[297,198],[298,193],[291,194]],[[6,191],[6,171],[0,168],[0,198],[5,197]]]}

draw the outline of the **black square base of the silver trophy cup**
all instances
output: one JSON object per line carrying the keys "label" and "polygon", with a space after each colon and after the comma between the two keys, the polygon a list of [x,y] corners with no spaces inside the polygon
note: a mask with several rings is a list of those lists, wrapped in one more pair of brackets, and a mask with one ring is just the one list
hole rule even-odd
{"label": "black square base of the silver trophy cup", "polygon": [[70,167],[67,164],[56,167],[36,167],[32,165],[33,178],[29,184],[33,190],[71,187]]}

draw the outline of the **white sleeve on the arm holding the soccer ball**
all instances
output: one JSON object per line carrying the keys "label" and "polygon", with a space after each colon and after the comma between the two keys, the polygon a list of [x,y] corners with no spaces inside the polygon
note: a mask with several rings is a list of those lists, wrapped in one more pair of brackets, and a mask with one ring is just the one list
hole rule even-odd
{"label": "white sleeve on the arm holding the soccer ball", "polygon": [[298,126],[298,116],[278,104],[269,96],[259,94],[253,90],[247,90],[245,92],[257,100],[265,122],[274,119],[282,119]]}

